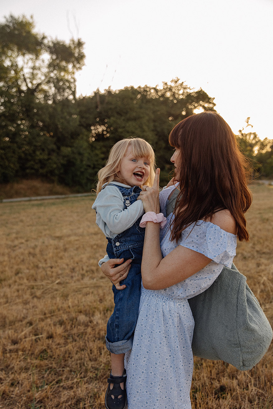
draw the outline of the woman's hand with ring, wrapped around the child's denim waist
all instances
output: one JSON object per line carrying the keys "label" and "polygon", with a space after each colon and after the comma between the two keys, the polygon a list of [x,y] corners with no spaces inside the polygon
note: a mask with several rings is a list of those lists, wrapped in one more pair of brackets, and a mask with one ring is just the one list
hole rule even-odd
{"label": "woman's hand with ring, wrapped around the child's denim waist", "polygon": [[[117,290],[124,290],[126,285],[120,285],[120,281],[126,279],[128,272],[131,267],[131,258],[129,260],[124,261],[124,258],[110,258],[110,260],[106,261],[102,264],[102,272],[103,274],[111,280],[111,282],[115,285]],[[115,267],[116,264],[120,264]]]}

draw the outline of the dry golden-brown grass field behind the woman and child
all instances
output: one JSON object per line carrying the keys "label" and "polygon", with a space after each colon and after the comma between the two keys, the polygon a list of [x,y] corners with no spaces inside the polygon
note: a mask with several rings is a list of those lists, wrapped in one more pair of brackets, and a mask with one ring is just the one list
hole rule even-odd
{"label": "dry golden-brown grass field behind the woman and child", "polygon": [[[273,187],[252,187],[235,264],[273,325]],[[0,408],[102,409],[111,283],[93,199],[0,203]],[[195,359],[193,409],[273,408],[273,347],[250,371]],[[149,409],[149,408],[147,408]]]}

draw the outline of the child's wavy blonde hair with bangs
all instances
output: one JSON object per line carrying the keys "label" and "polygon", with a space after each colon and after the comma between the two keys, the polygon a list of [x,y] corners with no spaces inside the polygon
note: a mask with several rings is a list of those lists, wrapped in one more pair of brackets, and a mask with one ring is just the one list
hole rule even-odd
{"label": "child's wavy blonde hair with bangs", "polygon": [[120,162],[126,154],[126,150],[131,148],[133,155],[138,157],[147,157],[150,161],[150,174],[149,178],[144,181],[143,184],[152,186],[155,177],[156,161],[153,148],[147,141],[142,138],[126,138],[117,142],[112,146],[109,153],[108,160],[104,168],[98,172],[99,182],[97,183],[97,194],[102,190],[104,183],[115,182],[124,183],[124,180],[117,174],[120,170]]}

